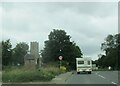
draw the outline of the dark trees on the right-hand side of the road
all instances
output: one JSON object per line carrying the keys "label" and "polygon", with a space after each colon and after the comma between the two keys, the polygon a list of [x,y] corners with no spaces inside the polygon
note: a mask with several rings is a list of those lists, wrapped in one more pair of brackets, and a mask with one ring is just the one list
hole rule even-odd
{"label": "dark trees on the right-hand side of the road", "polygon": [[120,69],[120,34],[108,35],[105,42],[101,44],[105,55],[101,55],[96,63],[102,68],[111,66],[113,69]]}

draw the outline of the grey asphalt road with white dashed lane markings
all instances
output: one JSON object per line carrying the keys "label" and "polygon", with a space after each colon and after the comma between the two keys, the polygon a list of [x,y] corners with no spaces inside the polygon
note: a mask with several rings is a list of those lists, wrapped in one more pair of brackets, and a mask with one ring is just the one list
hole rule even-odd
{"label": "grey asphalt road with white dashed lane markings", "polygon": [[92,74],[73,74],[67,84],[118,84],[118,71],[93,71]]}

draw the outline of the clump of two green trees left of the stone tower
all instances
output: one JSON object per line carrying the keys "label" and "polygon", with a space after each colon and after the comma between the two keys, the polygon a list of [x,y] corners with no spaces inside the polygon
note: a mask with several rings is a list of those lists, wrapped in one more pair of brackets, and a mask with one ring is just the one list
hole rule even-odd
{"label": "clump of two green trees left of the stone tower", "polygon": [[12,49],[10,39],[8,39],[6,41],[2,41],[1,47],[3,69],[4,66],[8,65],[24,64],[24,56],[29,48],[28,44],[21,42],[18,43],[14,49]]}

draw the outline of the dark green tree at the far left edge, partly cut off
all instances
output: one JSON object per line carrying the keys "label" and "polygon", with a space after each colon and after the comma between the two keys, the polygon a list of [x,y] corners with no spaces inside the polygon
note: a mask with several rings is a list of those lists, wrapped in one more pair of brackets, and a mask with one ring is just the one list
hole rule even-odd
{"label": "dark green tree at the far left edge, partly cut off", "polygon": [[7,66],[12,61],[12,45],[10,39],[2,41],[2,65]]}

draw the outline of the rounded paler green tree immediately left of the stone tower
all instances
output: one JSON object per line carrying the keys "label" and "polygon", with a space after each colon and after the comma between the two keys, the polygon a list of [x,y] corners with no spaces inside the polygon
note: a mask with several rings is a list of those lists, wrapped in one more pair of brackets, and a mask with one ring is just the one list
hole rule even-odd
{"label": "rounded paler green tree immediately left of the stone tower", "polygon": [[12,58],[14,65],[24,64],[24,56],[27,54],[28,49],[29,46],[25,42],[21,42],[16,45],[16,47],[13,49],[13,58]]}

